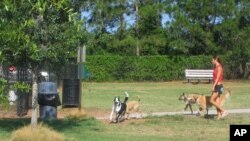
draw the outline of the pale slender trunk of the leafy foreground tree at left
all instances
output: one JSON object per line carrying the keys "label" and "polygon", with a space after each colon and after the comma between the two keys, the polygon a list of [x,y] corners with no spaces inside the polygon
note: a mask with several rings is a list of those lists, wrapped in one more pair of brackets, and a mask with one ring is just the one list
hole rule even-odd
{"label": "pale slender trunk of the leafy foreground tree at left", "polygon": [[32,73],[32,113],[31,113],[31,125],[37,125],[37,95],[38,95],[38,86],[37,86],[37,75]]}

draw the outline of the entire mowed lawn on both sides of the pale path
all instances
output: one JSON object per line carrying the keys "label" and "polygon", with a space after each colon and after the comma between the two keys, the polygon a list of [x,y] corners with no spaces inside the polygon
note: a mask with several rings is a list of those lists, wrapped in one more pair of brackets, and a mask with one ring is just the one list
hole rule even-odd
{"label": "entire mowed lawn on both sides of the pale path", "polygon": [[[113,97],[123,100],[124,91],[130,100],[141,98],[141,110],[150,112],[183,111],[184,102],[178,97],[185,93],[210,95],[212,84],[191,84],[184,81],[145,83],[83,83],[83,109],[98,109],[109,112]],[[226,109],[250,108],[250,81],[226,81],[233,95],[225,103]],[[197,107],[194,106],[194,110]],[[58,108],[60,112],[60,107]],[[107,115],[104,115],[107,116]],[[47,121],[44,124],[64,134],[66,141],[228,141],[231,124],[249,124],[250,114],[229,114],[225,119],[214,116],[172,115],[126,120],[110,124],[107,120],[91,117],[65,118]],[[11,133],[30,123],[30,119],[0,119],[0,141],[8,141]]]}

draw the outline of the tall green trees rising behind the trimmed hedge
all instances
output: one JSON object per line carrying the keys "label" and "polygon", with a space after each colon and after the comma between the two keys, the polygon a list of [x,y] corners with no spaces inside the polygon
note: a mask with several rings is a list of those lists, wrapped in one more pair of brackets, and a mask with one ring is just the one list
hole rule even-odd
{"label": "tall green trees rising behind the trimmed hedge", "polygon": [[219,54],[227,58],[228,78],[246,74],[248,0],[89,0],[82,13],[88,55]]}

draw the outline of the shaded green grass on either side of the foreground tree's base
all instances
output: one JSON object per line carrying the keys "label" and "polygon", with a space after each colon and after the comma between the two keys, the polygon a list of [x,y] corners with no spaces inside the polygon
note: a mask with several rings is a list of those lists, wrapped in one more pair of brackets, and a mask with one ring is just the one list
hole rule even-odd
{"label": "shaded green grass on either side of the foreground tree's base", "polygon": [[[23,126],[27,126],[31,123],[30,118],[4,118],[0,119],[0,130],[12,132]],[[63,132],[79,126],[95,126],[97,124],[94,118],[67,118],[56,120],[38,120],[38,123],[43,123],[48,127]]]}

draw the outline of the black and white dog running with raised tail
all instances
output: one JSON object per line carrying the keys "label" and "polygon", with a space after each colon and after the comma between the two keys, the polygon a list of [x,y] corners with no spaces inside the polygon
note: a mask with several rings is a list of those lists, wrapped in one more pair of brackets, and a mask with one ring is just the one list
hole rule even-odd
{"label": "black and white dog running with raised tail", "polygon": [[[125,92],[125,99],[123,102],[120,101],[120,97],[119,96],[115,96],[114,98],[114,105],[112,107],[112,111],[111,111],[111,114],[110,114],[110,121],[111,122],[120,122],[124,119],[124,116],[125,116],[125,113],[126,113],[126,109],[127,109],[127,105],[126,105],[126,102],[128,101],[128,93]],[[115,115],[115,120],[113,121],[113,114],[116,114]]]}

